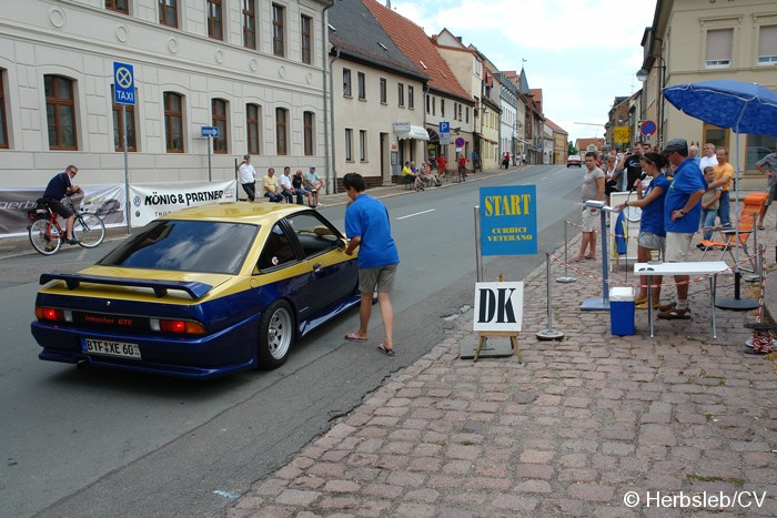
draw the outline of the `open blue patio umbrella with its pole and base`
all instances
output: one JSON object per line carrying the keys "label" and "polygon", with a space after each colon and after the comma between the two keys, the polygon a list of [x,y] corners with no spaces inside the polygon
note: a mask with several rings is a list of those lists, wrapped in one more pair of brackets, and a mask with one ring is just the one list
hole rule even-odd
{"label": "open blue patio umbrella with its pole and base", "polygon": [[[719,128],[730,128],[734,133],[753,133],[777,136],[777,92],[740,81],[703,81],[676,84],[663,90],[664,98],[683,113]],[[735,206],[739,204],[739,139],[735,153]],[[739,241],[739,221],[736,224]],[[753,302],[739,298],[739,248],[735,251],[735,296],[720,301],[727,309],[751,309]],[[757,305],[757,303],[756,303]]]}

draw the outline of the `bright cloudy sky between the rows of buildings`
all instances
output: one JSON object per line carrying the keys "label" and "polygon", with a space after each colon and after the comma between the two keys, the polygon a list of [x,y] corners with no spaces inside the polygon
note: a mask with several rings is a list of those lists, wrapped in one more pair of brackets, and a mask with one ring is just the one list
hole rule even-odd
{"label": "bright cloudy sky between the rows of buildings", "polygon": [[543,90],[545,116],[574,142],[603,136],[615,97],[642,88],[639,43],[656,0],[392,0],[391,6],[427,34],[448,29],[462,37],[500,70],[519,71],[523,64],[529,88]]}

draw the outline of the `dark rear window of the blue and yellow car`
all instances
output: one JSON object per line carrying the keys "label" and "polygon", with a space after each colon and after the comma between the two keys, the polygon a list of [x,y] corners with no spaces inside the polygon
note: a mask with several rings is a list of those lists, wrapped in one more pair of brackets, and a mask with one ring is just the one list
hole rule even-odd
{"label": "dark rear window of the blue and yellow car", "polygon": [[236,274],[256,225],[210,221],[155,221],[103,257],[102,266]]}

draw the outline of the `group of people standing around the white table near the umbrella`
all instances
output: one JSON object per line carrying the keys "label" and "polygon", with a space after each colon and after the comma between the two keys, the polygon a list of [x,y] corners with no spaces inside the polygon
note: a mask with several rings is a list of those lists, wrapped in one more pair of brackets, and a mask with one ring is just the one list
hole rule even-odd
{"label": "group of people standing around the white table near the umbrella", "polygon": [[[629,186],[636,197],[629,196],[614,209],[618,212],[626,207],[642,210],[637,237],[637,261],[640,263],[654,258],[652,253],[660,253],[666,262],[686,262],[699,222],[709,231],[717,216],[722,226],[730,226],[729,191],[734,167],[728,163],[728,151],[706,144],[705,156],[698,158],[697,154],[698,149],[688,148],[685,139],[670,140],[660,152],[637,143],[622,156],[608,156],[605,172],[598,166],[602,163],[598,154],[586,153],[582,187],[583,240],[579,254],[572,261],[596,258],[598,210],[585,206],[585,202],[604,201],[620,185]],[[688,281],[687,275],[675,275],[676,301],[662,304],[662,278],[655,277],[653,304],[659,318],[690,318]],[[635,298],[637,308],[647,308],[647,288],[640,286]]]}

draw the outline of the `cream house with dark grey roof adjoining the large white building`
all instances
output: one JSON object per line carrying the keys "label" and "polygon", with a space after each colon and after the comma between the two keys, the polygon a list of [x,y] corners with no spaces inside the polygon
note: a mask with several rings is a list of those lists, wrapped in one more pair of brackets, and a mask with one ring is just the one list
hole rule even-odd
{"label": "cream house with dark grey roof adjoining the large white building", "polygon": [[394,44],[362,0],[329,11],[334,176],[356,172],[389,185],[404,162],[420,164],[427,78]]}

